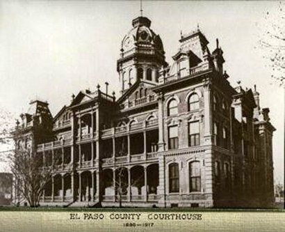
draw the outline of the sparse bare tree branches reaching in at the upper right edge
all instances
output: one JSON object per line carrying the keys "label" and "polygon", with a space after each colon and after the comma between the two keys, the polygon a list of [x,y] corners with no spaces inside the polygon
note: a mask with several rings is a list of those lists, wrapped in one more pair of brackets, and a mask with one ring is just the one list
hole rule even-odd
{"label": "sparse bare tree branches reaching in at the upper right edge", "polygon": [[284,2],[267,11],[261,20],[259,48],[271,69],[271,77],[279,86],[285,86],[285,12]]}

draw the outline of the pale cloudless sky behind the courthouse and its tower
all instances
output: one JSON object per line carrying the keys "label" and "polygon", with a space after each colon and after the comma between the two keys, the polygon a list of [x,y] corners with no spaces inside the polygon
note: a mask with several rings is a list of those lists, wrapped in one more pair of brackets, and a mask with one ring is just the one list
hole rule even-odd
{"label": "pale cloudless sky behind the courthouse and its tower", "polygon": [[[272,1],[143,1],[143,15],[163,40],[168,63],[181,31],[197,28],[211,51],[219,38],[229,82],[257,84],[261,107],[270,107],[275,181],[284,182],[284,88],[270,79],[268,61],[256,48]],[[0,1],[0,107],[19,116],[38,98],[53,116],[72,93],[107,81],[120,91],[116,61],[122,38],[140,15],[140,1]],[[2,147],[3,148],[3,147]],[[1,148],[0,148],[1,150]],[[0,164],[3,168],[3,164]]]}

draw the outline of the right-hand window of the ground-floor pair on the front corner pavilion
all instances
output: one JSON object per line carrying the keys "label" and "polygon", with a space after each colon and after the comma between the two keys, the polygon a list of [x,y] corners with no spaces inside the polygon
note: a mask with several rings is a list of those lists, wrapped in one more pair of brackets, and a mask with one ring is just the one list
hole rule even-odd
{"label": "right-hand window of the ground-floor pair on the front corner pavilion", "polygon": [[190,192],[201,191],[201,169],[200,162],[194,161],[189,163],[189,186]]}

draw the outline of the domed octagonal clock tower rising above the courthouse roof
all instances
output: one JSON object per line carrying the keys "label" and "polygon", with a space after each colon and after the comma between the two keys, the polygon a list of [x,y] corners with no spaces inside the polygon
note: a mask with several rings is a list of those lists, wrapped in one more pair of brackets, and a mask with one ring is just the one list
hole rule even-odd
{"label": "domed octagonal clock tower rising above the courthouse roof", "polygon": [[158,84],[158,71],[167,66],[160,36],[150,29],[147,17],[133,20],[133,28],[122,40],[117,72],[120,75],[121,92],[124,93],[139,79]]}

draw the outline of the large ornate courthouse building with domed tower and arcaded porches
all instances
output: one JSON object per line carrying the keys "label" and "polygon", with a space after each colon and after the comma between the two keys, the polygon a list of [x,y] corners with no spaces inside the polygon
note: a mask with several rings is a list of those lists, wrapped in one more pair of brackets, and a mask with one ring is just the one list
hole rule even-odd
{"label": "large ornate courthouse building with domed tower and arcaded porches", "polygon": [[54,117],[40,100],[21,115],[16,148],[54,165],[40,204],[270,206],[275,127],[256,86],[231,86],[218,39],[211,52],[199,29],[168,64],[150,26],[137,17],[118,47],[120,96],[90,86]]}

